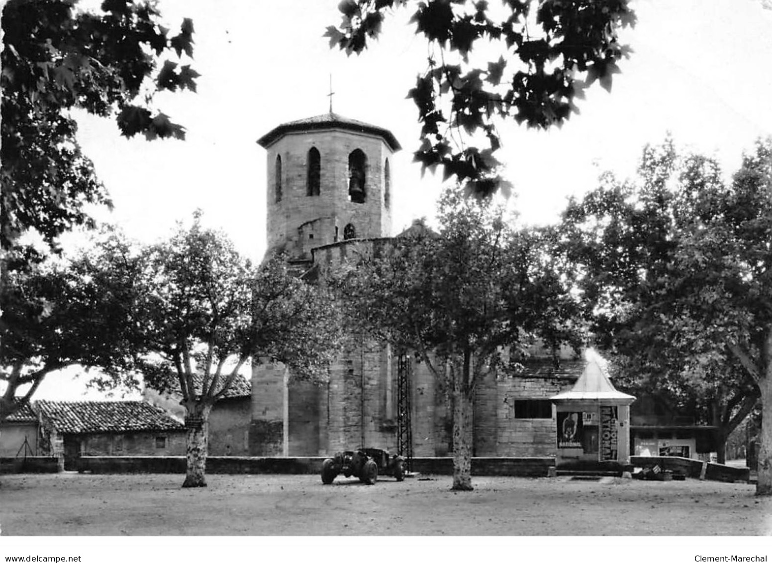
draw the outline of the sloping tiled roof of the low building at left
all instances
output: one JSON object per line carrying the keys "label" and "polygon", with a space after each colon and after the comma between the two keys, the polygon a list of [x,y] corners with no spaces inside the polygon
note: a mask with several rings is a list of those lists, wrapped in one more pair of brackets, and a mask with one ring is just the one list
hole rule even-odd
{"label": "sloping tiled roof of the low building at left", "polygon": [[143,401],[36,401],[34,408],[57,432],[68,434],[184,428],[164,409]]}

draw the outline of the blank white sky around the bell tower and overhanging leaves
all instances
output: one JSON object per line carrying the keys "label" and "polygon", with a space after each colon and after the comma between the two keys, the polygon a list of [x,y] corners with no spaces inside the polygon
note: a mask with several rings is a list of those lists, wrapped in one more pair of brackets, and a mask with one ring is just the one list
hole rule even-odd
{"label": "blank white sky around the bell tower and overhanging leaves", "polygon": [[[347,58],[323,32],[340,21],[337,0],[159,0],[169,26],[195,23],[198,93],[157,97],[188,129],[187,141],[127,140],[111,120],[79,116],[80,141],[115,209],[100,217],[144,242],[167,236],[196,208],[236,246],[260,259],[266,238],[265,151],[256,140],[285,121],[334,111],[390,129],[403,151],[393,162],[394,232],[432,216],[438,178],[412,164],[420,125],[407,91],[425,68],[408,12],[379,42]],[[760,0],[637,0],[626,31],[635,53],[611,94],[597,84],[562,129],[501,129],[499,159],[527,222],[552,222],[565,198],[593,188],[602,169],[630,175],[645,143],[672,131],[679,145],[713,154],[725,171],[754,139],[772,133],[772,11]],[[187,63],[187,62],[185,62]],[[79,399],[81,385],[49,377],[36,397]]]}

